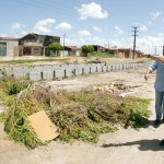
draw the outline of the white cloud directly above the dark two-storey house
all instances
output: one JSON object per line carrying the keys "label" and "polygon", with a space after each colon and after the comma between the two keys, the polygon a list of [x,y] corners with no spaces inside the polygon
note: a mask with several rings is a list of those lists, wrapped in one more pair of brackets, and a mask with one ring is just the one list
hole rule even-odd
{"label": "white cloud directly above the dark two-storey house", "polygon": [[47,25],[54,24],[56,21],[54,19],[46,19],[38,21],[35,26],[35,33],[51,33],[51,30]]}

